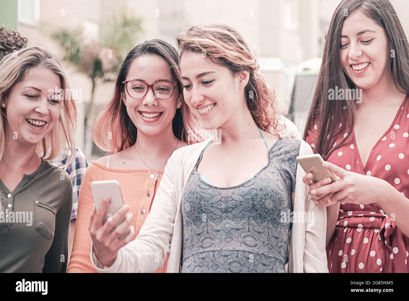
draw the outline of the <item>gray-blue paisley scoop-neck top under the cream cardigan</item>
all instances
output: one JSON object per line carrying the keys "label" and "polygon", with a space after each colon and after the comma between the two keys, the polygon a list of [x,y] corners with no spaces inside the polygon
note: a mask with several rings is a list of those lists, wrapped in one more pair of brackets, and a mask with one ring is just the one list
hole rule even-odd
{"label": "gray-blue paisley scoop-neck top under the cream cardigan", "polygon": [[200,155],[182,195],[182,273],[285,273],[301,140],[279,139],[254,177],[229,188],[204,181]]}

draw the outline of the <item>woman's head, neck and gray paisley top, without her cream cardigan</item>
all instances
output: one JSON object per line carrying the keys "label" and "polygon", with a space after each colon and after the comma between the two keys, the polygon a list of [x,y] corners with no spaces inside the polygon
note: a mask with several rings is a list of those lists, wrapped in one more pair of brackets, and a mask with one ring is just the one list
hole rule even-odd
{"label": "woman's head, neck and gray paisley top, without her cream cardigan", "polygon": [[182,195],[182,272],[285,272],[301,141],[271,134],[276,98],[238,32],[191,27],[178,45],[184,99],[220,133]]}

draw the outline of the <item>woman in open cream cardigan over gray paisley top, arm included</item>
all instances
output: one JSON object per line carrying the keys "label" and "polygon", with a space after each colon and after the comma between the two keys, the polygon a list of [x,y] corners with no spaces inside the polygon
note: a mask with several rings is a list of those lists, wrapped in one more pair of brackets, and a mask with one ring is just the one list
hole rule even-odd
{"label": "woman in open cream cardigan over gray paisley top, arm included", "polygon": [[[276,99],[247,43],[229,26],[207,25],[191,27],[178,45],[184,100],[221,139],[173,153],[136,239],[117,240],[128,222],[111,232],[126,207],[105,225],[104,210],[94,210],[94,267],[152,272],[171,243],[166,272],[282,273],[287,263],[288,272],[328,272],[326,211],[307,199],[295,161],[312,150],[277,136]],[[310,218],[287,219],[292,211]]]}

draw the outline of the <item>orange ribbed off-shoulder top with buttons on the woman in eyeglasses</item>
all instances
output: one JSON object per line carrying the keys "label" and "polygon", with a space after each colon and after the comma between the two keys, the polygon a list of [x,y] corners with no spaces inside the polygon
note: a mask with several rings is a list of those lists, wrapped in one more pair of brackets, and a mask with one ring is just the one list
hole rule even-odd
{"label": "orange ribbed off-shoulder top with buttons on the woman in eyeglasses", "polygon": [[[124,203],[130,206],[128,213],[133,213],[131,225],[135,226],[135,232],[138,235],[151,210],[153,197],[155,197],[156,190],[162,179],[163,170],[158,171],[158,173],[159,179],[156,180],[155,177],[150,178],[151,174],[155,174],[155,170],[121,170],[106,167],[96,161],[91,162],[85,172],[79,192],[74,245],[68,264],[68,273],[97,273],[92,267],[90,259],[92,240],[88,231],[94,203],[90,188],[91,182],[103,180],[117,180],[119,182]],[[142,214],[142,210],[145,210],[144,214]],[[166,256],[164,265],[155,273],[166,272],[168,257],[169,253]]]}

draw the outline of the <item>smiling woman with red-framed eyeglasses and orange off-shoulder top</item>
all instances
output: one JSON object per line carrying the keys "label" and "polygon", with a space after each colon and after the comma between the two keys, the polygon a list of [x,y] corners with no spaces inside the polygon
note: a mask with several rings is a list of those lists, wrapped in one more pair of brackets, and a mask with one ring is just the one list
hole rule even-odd
{"label": "smiling woman with red-framed eyeglasses and orange off-shoulder top", "polygon": [[[158,39],[137,45],[122,64],[114,95],[94,121],[92,138],[110,155],[93,161],[85,172],[68,272],[96,272],[89,255],[90,183],[119,181],[129,209],[125,223],[131,225],[121,241],[126,244],[148,217],[168,158],[175,149],[200,140],[191,135],[200,133],[200,126],[183,101],[178,66],[177,50]],[[166,272],[166,263],[156,272]]]}

